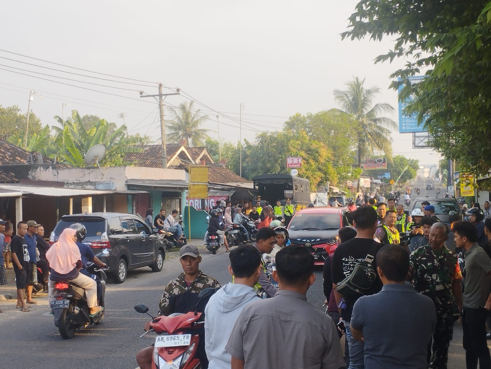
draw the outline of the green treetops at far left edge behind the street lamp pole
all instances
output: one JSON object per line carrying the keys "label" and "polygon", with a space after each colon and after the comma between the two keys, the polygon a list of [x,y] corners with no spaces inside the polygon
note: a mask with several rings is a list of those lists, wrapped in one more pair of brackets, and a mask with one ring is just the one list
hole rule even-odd
{"label": "green treetops at far left edge behind the street lamp pole", "polygon": [[[0,134],[6,139],[9,136],[16,135],[23,137],[26,134],[27,114],[21,113],[18,105],[2,107],[0,105]],[[29,113],[28,135],[41,131],[41,121],[31,110]],[[24,147],[24,141],[22,142]]]}

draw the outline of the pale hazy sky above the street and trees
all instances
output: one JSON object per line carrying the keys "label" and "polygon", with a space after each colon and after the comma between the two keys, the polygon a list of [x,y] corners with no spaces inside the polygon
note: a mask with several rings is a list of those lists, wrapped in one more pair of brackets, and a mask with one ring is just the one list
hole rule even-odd
{"label": "pale hazy sky above the street and trees", "polygon": [[[25,112],[32,90],[44,97],[34,96],[31,103],[43,125],[57,124],[53,117],[66,117],[72,109],[118,124],[123,123],[118,114],[124,113],[130,134],[139,132],[157,140],[158,106],[153,98],[139,98],[138,91],[157,94],[160,82],[182,91],[180,96],[166,97],[165,104],[195,101],[209,117],[203,128],[213,130],[214,138],[218,138],[218,115],[222,142],[239,139],[244,104],[242,138],[252,141],[257,133],[280,130],[297,112],[339,107],[333,90],[359,77],[365,78],[365,87],[381,88],[377,102],[391,104],[395,110],[388,116],[398,122],[397,92],[388,87],[389,75],[404,61],[373,61],[392,47],[392,41],[341,41],[339,34],[347,28],[356,3],[10,1],[3,7],[4,14],[22,16],[3,17],[0,23],[0,104],[19,105]],[[171,92],[164,88],[164,93]],[[432,150],[412,149],[410,133],[392,132],[391,137],[394,155],[416,158],[421,164],[438,161]]]}

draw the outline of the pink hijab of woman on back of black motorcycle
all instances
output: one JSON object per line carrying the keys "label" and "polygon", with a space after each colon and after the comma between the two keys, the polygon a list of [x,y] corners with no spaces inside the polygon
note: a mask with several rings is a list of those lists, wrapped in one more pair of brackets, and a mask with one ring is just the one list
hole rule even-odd
{"label": "pink hijab of woman on back of black motorcycle", "polygon": [[74,229],[65,228],[61,232],[58,242],[46,251],[46,259],[56,273],[67,274],[71,272],[77,262],[82,259],[79,246],[73,240],[76,232]]}

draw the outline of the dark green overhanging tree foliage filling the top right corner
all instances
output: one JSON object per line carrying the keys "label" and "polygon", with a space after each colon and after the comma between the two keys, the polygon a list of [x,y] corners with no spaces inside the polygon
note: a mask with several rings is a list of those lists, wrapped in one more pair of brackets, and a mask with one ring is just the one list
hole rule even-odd
{"label": "dark green overhanging tree foliage filling the top right corner", "polygon": [[[413,101],[407,112],[433,135],[431,144],[463,170],[487,174],[491,167],[491,2],[449,0],[359,1],[342,37],[395,38],[376,62],[408,60],[391,78],[399,96]],[[411,85],[407,77],[425,73]]]}

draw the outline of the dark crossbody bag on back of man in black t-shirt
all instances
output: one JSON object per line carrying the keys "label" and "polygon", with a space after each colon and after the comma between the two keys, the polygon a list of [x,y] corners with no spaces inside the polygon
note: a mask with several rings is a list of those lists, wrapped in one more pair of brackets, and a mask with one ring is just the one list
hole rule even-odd
{"label": "dark crossbody bag on back of man in black t-shirt", "polygon": [[337,291],[345,298],[358,298],[367,294],[377,279],[373,260],[377,250],[372,247],[365,260],[355,264],[348,277],[337,284]]}

